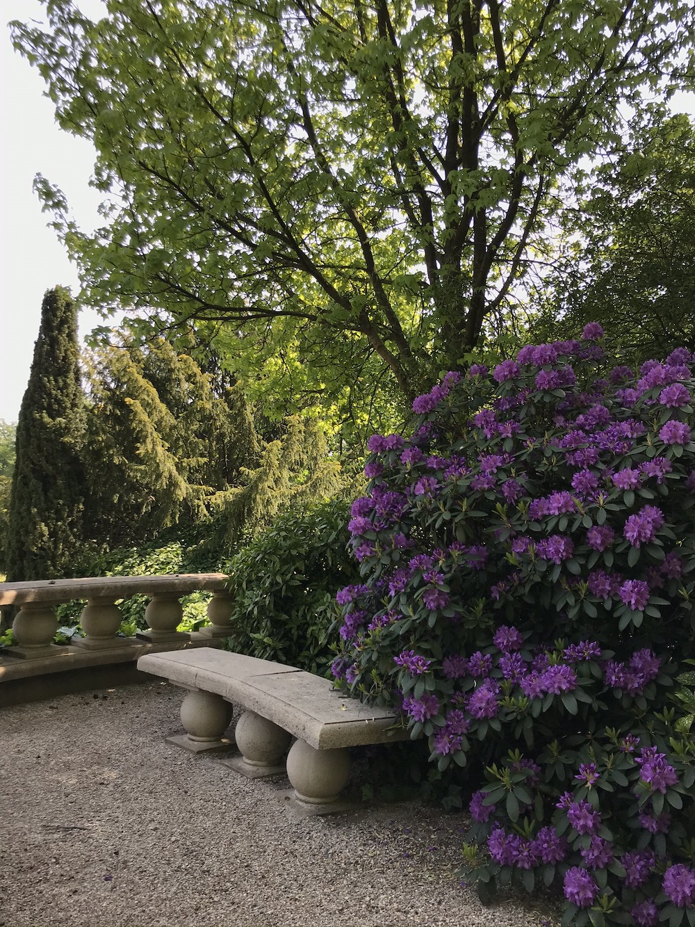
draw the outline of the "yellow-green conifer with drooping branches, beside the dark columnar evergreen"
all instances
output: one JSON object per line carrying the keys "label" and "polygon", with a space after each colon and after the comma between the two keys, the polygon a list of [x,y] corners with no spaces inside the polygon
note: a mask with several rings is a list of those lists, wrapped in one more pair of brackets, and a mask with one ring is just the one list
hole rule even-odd
{"label": "yellow-green conifer with drooping branches, beside the dark columnar evergreen", "polygon": [[124,337],[88,356],[85,533],[97,548],[201,522],[229,541],[338,488],[319,423],[296,416],[266,440],[238,384],[205,373],[188,342],[184,353],[163,338]]}

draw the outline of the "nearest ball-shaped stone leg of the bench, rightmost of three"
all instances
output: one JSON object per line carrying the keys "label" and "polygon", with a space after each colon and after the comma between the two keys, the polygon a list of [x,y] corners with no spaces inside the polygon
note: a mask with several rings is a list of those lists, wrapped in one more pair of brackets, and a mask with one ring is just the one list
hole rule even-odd
{"label": "nearest ball-shaped stone leg of the bench, rightmost of three", "polygon": [[287,778],[295,801],[307,810],[321,814],[338,803],[350,774],[350,755],[345,747],[316,750],[304,741],[295,741],[287,755]]}

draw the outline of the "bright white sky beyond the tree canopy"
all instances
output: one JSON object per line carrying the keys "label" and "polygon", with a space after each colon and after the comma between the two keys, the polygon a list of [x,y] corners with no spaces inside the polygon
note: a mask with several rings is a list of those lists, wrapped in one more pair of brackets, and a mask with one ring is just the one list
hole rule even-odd
{"label": "bright white sky beyond the tree canopy", "polygon": [[[66,194],[78,224],[94,228],[99,222],[99,195],[89,186],[94,164],[90,143],[61,132],[53,106],[44,97],[37,70],[16,53],[6,23],[11,19],[44,20],[39,0],[0,0],[0,419],[16,422],[29,379],[33,345],[38,335],[44,292],[53,286],[79,290],[77,272],[56,233],[46,227],[32,191],[36,173]],[[79,6],[96,17],[99,0],[80,0]],[[695,95],[676,95],[673,109],[695,112]],[[91,311],[82,313],[82,334],[100,323]]]}

